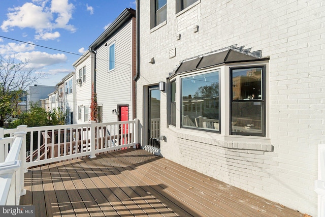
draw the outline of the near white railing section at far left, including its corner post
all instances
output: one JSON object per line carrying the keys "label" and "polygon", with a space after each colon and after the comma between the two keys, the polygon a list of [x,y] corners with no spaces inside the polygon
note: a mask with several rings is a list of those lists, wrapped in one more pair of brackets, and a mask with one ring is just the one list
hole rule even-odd
{"label": "near white railing section at far left, including its corner post", "polygon": [[25,135],[16,132],[13,137],[0,138],[0,205],[19,205],[20,196],[26,194]]}

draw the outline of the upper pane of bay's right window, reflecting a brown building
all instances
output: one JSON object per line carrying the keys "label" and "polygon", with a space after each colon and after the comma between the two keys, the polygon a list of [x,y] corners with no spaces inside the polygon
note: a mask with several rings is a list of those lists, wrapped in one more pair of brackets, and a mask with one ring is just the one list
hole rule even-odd
{"label": "upper pane of bay's right window, reflecting a brown building", "polygon": [[262,68],[233,70],[233,100],[252,100],[262,96]]}

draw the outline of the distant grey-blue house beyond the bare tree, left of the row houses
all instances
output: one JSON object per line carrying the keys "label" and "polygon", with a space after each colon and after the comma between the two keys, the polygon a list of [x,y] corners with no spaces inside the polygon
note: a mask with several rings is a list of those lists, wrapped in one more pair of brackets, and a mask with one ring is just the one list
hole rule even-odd
{"label": "distant grey-blue house beyond the bare tree, left of the row houses", "polygon": [[35,84],[34,86],[29,86],[27,92],[27,110],[30,109],[30,103],[41,106],[41,99],[45,99],[48,95],[56,90],[56,86],[45,86]]}

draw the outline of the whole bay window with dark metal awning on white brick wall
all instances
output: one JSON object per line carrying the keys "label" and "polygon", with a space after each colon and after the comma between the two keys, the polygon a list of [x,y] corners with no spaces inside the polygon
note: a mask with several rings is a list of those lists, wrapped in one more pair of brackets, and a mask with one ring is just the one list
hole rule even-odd
{"label": "whole bay window with dark metal awning on white brick wall", "polygon": [[224,139],[266,137],[269,58],[261,56],[230,47],[181,61],[169,77],[169,124]]}

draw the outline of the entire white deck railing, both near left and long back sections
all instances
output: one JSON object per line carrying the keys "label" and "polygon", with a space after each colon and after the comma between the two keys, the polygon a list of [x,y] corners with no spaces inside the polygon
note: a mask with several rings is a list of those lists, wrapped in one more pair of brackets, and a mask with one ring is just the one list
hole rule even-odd
{"label": "entire white deck railing, both near left and long back sections", "polygon": [[[21,132],[23,131],[23,132]],[[9,134],[10,137],[4,138]],[[19,205],[27,168],[136,146],[139,120],[0,128],[0,205]],[[26,146],[28,149],[26,149]],[[15,193],[14,193],[15,192]]]}

